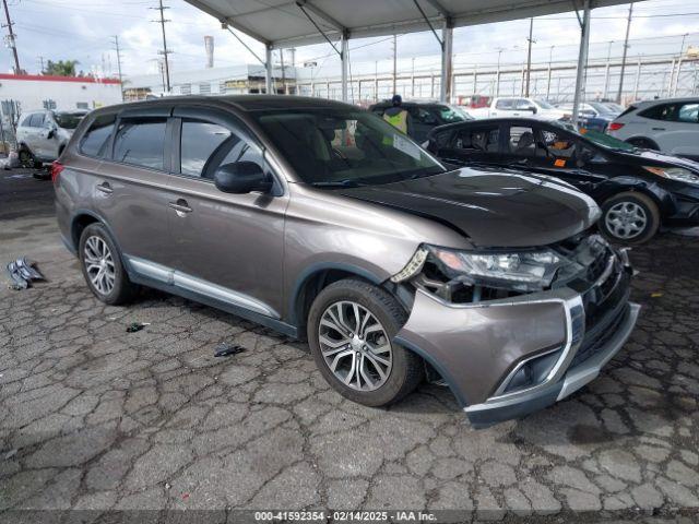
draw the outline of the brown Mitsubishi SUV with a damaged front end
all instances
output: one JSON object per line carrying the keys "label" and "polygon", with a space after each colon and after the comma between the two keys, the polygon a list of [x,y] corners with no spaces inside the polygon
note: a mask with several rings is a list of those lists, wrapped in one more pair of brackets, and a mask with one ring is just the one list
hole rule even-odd
{"label": "brown Mitsubishi SUV with a damaged front end", "polygon": [[308,337],[324,378],[381,406],[427,373],[475,425],[560,400],[639,307],[592,200],[547,177],[449,170],[356,107],[286,96],[98,109],[54,166],[91,290],[139,285]]}

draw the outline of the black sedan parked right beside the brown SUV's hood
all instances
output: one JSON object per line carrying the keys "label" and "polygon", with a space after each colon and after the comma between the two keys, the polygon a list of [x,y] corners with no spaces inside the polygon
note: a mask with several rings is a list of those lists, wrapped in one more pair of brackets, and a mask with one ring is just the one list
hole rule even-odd
{"label": "black sedan parked right beside the brown SUV's hood", "polygon": [[528,118],[442,126],[428,139],[427,148],[448,164],[525,169],[571,183],[597,202],[600,229],[615,241],[642,243],[660,226],[699,225],[697,162]]}

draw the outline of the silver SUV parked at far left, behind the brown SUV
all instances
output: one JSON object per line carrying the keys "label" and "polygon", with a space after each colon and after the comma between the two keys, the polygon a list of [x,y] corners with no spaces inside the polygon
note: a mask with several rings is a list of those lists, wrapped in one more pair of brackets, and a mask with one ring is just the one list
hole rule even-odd
{"label": "silver SUV parked at far left, behind the brown SUV", "polygon": [[17,126],[20,163],[40,167],[44,162],[54,162],[85,115],[85,110],[46,109],[23,114]]}

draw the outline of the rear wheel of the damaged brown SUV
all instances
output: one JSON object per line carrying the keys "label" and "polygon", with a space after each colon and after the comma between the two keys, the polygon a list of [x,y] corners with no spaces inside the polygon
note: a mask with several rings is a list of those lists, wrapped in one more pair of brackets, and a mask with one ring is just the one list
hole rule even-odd
{"label": "rear wheel of the damaged brown SUV", "polygon": [[[129,281],[119,250],[104,225],[95,223],[85,227],[78,253],[83,276],[95,297],[110,306],[128,303],[135,297],[138,286]],[[102,260],[105,263],[97,262]],[[102,277],[98,277],[100,272]]]}

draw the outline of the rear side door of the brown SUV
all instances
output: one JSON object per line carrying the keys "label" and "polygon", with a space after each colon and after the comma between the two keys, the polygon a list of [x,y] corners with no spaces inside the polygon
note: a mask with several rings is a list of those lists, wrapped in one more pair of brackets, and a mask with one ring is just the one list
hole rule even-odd
{"label": "rear side door of the brown SUV", "polygon": [[[132,266],[152,276],[171,259],[167,203],[171,168],[168,141],[171,107],[122,111],[94,177],[95,212]],[[104,124],[104,122],[103,122]]]}

